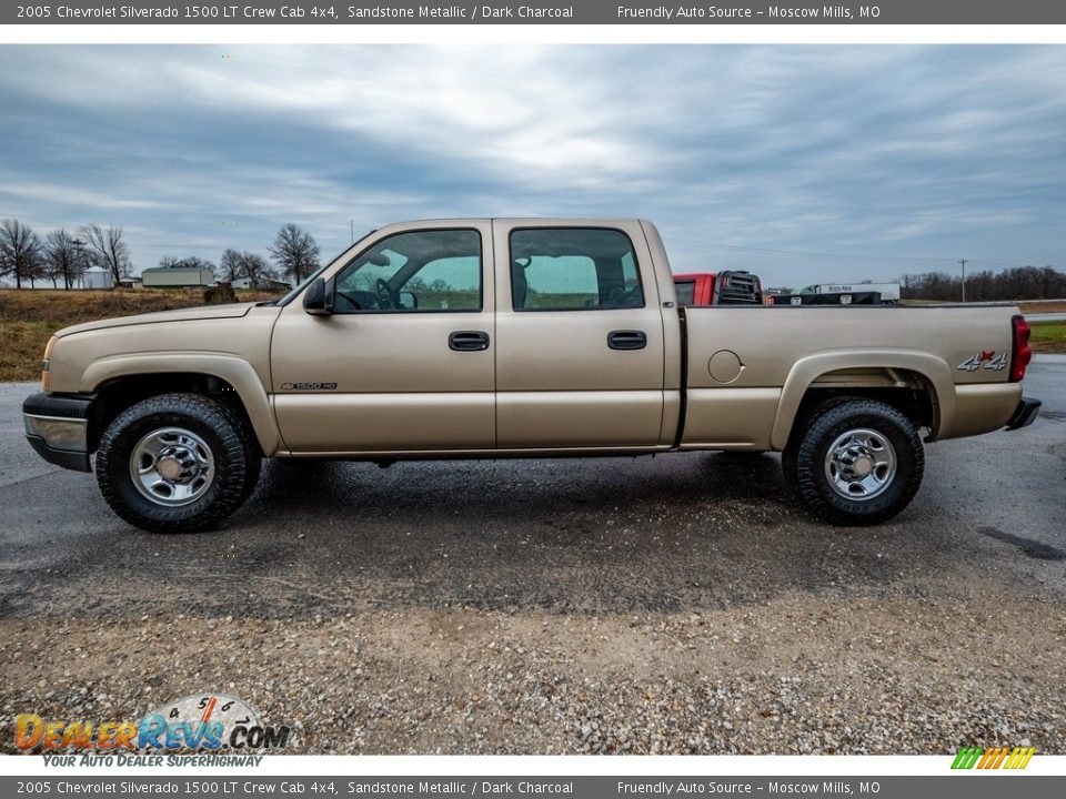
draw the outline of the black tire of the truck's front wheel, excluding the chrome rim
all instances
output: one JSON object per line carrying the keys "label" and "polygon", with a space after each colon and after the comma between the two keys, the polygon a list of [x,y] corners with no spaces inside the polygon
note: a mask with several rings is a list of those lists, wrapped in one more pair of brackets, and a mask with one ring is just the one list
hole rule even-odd
{"label": "black tire of the truck's front wheel, excluding the chrome rim", "polygon": [[[214,476],[188,505],[168,506],[143,496],[134,485],[130,458],[145,435],[161,428],[188,431],[210,449]],[[199,394],[160,394],[123,411],[97,447],[97,483],[120,517],[150,533],[211,529],[237,510],[255,489],[262,458],[237,412]]]}

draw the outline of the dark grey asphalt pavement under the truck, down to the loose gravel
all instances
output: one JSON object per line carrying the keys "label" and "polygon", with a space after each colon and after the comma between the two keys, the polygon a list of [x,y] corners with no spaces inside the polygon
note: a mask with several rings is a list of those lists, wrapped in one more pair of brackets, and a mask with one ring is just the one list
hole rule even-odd
{"label": "dark grey asphalt pavement under the truck, down to the loose gravel", "polygon": [[1029,370],[1026,392],[1045,403],[1033,426],[931,446],[916,500],[866,530],[812,522],[784,496],[776,456],[684,454],[269,463],[223,529],[150,535],[111,514],[91,475],[37,459],[19,421],[33,390],[0,387],[0,617],[188,603],[225,614],[266,588],[260,611],[281,616],[449,601],[713,607],[962,566],[1066,585],[1054,559],[1066,550],[1066,356]]}

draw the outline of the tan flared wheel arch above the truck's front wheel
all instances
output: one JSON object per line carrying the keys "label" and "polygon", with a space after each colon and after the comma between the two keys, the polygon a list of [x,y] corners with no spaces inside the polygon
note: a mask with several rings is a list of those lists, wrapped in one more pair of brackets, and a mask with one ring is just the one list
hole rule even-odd
{"label": "tan flared wheel arch above the truck's front wheel", "polygon": [[281,445],[270,397],[251,363],[212,353],[145,353],[94,361],[82,375],[81,391],[97,394],[90,445],[125,408],[149,396],[173,391],[204,394],[228,404],[247,422],[263,455]]}

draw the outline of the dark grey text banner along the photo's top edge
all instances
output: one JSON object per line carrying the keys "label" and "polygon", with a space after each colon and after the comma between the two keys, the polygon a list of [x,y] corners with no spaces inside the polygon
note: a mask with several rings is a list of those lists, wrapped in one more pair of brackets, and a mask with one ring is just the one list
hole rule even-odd
{"label": "dark grey text banner along the photo's top edge", "polygon": [[1062,0],[881,0],[878,4],[800,2],[656,3],[619,0],[447,3],[168,3],[67,0],[3,3],[2,24],[1063,24]]}

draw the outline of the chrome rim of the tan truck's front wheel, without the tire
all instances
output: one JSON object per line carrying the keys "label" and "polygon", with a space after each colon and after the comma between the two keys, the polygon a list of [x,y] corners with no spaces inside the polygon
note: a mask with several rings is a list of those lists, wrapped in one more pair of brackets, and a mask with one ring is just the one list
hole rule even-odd
{"label": "chrome rim of the tan truck's front wheel, without the tire", "polygon": [[214,454],[192,431],[162,427],[133,447],[130,477],[141,496],[157,505],[189,505],[214,482]]}

